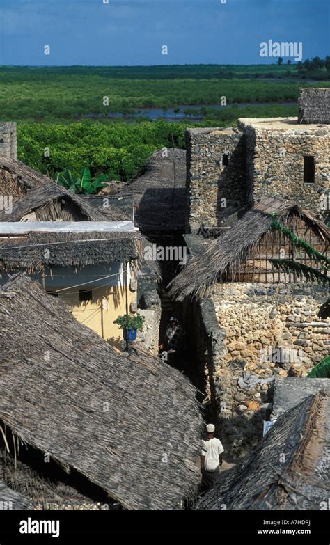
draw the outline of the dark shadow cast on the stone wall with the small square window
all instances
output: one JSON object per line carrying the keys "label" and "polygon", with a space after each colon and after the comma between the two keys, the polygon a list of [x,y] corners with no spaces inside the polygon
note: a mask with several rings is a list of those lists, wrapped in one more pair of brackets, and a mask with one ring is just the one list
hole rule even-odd
{"label": "dark shadow cast on the stone wall with the small square window", "polygon": [[248,191],[246,180],[246,145],[242,137],[230,155],[223,153],[217,160],[217,166],[223,165],[223,171],[217,183],[217,225],[239,208],[246,205]]}

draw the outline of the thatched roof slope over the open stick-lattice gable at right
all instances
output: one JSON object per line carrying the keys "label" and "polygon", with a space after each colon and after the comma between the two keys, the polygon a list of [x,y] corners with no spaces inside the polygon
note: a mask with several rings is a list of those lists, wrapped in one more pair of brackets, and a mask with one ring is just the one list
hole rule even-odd
{"label": "thatched roof slope over the open stick-lattice gable at right", "polygon": [[193,256],[169,285],[171,297],[183,301],[186,297],[203,297],[228,271],[235,271],[260,239],[271,229],[273,216],[285,223],[298,216],[327,246],[329,229],[307,210],[278,198],[263,197],[235,225],[207,246],[205,252]]}

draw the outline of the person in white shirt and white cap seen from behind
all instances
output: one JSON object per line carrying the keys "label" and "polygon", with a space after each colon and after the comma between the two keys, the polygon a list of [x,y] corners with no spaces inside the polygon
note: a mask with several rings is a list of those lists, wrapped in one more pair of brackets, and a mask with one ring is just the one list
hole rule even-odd
{"label": "person in white shirt and white cap seen from behind", "polygon": [[224,452],[220,439],[214,436],[214,424],[207,424],[206,439],[202,440],[201,450],[201,490],[210,489],[219,477],[222,466],[222,453]]}

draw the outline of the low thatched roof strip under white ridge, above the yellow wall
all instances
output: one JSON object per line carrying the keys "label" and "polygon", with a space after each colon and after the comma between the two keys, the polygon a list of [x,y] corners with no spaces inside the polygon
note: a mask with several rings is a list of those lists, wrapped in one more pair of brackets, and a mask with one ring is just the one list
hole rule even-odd
{"label": "low thatched roof strip under white ridge, above the yellow wall", "polygon": [[[139,232],[27,232],[2,235],[0,267],[40,271],[43,267],[86,267],[137,259]],[[45,253],[45,248],[49,253]],[[49,255],[49,258],[47,257]]]}

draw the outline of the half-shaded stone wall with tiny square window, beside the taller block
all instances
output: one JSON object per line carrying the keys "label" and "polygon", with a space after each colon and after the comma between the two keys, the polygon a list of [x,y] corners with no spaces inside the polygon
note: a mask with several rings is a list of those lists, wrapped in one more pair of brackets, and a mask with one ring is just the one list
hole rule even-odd
{"label": "half-shaded stone wall with tiny square window, beside the taller block", "polygon": [[237,129],[187,129],[191,230],[201,223],[217,226],[244,205],[245,155],[245,140]]}

